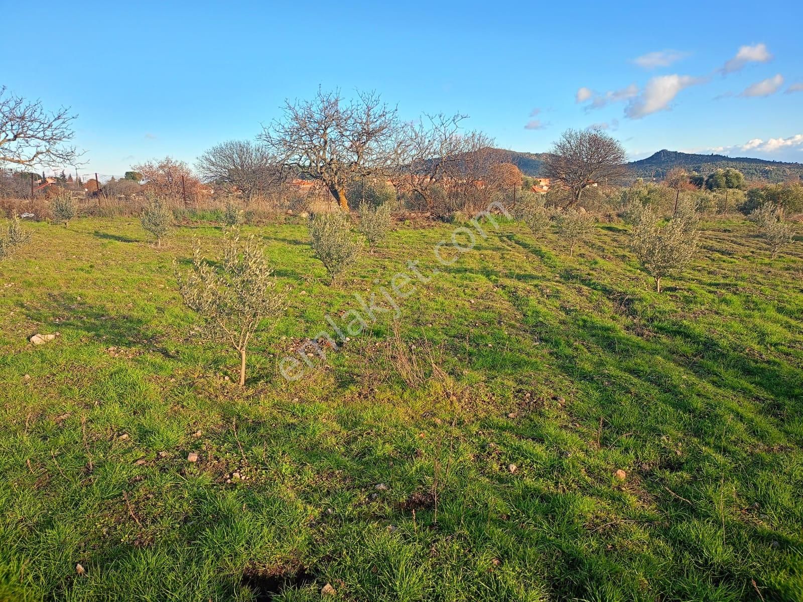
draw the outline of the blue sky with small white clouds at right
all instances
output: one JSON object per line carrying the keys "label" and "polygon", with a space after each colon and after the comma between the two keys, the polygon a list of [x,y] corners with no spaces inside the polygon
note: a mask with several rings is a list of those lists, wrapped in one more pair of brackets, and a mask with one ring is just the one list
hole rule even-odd
{"label": "blue sky with small white clouds at right", "polygon": [[0,4],[0,85],[71,106],[85,173],[192,164],[319,85],[462,112],[520,151],[604,124],[633,158],[803,162],[799,2]]}

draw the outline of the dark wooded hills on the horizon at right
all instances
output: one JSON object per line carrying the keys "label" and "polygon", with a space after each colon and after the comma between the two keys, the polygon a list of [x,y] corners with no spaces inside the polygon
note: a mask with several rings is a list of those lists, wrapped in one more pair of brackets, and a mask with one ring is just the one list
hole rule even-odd
{"label": "dark wooded hills on the horizon at right", "polygon": [[[510,153],[512,163],[527,176],[540,176],[543,159],[547,153]],[[803,179],[803,164],[784,163],[782,161],[765,161],[753,157],[726,157],[725,155],[695,155],[677,151],[660,150],[651,157],[627,164],[633,178],[645,180],[662,180],[673,167],[683,167],[689,172],[707,175],[717,169],[733,167],[744,173],[744,177],[752,181],[784,182]]]}

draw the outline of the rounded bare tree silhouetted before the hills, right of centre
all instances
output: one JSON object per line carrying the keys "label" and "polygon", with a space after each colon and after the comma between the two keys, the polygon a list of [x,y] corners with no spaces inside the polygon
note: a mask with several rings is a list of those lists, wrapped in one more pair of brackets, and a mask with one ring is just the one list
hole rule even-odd
{"label": "rounded bare tree silhouetted before the hills, right of centre", "polygon": [[613,184],[622,178],[626,161],[622,144],[600,129],[568,129],[544,158],[544,174],[569,190],[568,207],[580,202],[586,187]]}

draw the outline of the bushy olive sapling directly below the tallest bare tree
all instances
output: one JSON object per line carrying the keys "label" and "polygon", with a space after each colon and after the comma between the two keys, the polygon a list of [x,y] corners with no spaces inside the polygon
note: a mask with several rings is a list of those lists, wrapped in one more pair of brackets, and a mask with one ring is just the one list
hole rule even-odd
{"label": "bushy olive sapling directly below the tallest bare tree", "polygon": [[334,284],[338,275],[357,259],[360,245],[355,242],[351,219],[342,212],[313,214],[308,220],[312,250]]}

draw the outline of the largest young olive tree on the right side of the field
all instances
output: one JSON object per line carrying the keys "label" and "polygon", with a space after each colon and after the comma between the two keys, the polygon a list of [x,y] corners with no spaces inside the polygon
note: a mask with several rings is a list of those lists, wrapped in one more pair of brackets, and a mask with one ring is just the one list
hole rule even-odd
{"label": "largest young olive tree on the right side of the field", "polygon": [[647,274],[655,280],[655,290],[661,292],[661,281],[677,276],[694,258],[699,232],[681,218],[672,218],[666,226],[658,225],[658,217],[644,209],[641,220],[630,235],[630,247]]}

